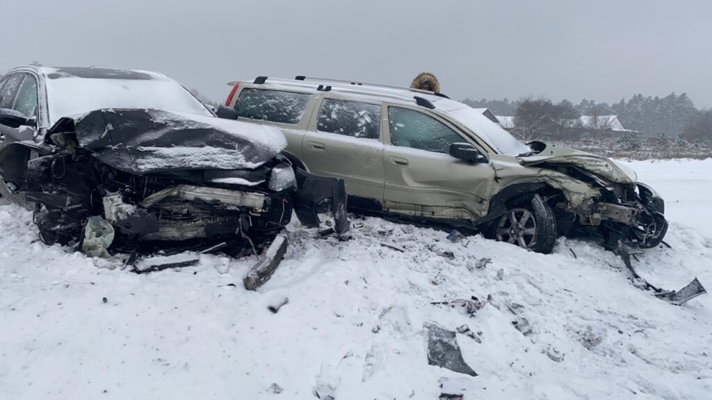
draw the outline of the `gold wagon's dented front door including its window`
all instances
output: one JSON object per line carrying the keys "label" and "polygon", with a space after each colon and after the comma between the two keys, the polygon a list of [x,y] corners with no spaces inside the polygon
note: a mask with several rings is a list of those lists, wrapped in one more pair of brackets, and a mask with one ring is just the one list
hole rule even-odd
{"label": "gold wagon's dented front door including its window", "polygon": [[440,117],[415,107],[387,106],[384,207],[426,219],[476,221],[486,214],[494,170],[449,155],[452,143],[483,149]]}

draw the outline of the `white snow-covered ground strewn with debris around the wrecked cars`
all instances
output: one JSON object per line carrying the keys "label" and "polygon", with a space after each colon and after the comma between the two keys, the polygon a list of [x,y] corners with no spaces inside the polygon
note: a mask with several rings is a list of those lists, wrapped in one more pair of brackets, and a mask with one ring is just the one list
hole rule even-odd
{"label": "white snow-covered ground strewn with debris around the wrecked cars", "polygon": [[[671,222],[672,248],[639,256],[639,273],[668,289],[695,276],[712,288],[712,159],[626,164],[664,196]],[[242,285],[254,257],[201,256],[147,275],[98,268],[112,264],[43,245],[30,213],[0,206],[0,399],[712,396],[711,295],[681,307],[656,299],[590,241],[560,238],[544,256],[353,222],[363,227],[345,242],[291,224],[286,259],[254,293]],[[483,257],[492,262],[472,268]],[[474,317],[430,304],[489,294]],[[512,325],[511,303],[530,335]],[[481,343],[457,335],[478,377],[428,364],[426,323],[481,332]]]}

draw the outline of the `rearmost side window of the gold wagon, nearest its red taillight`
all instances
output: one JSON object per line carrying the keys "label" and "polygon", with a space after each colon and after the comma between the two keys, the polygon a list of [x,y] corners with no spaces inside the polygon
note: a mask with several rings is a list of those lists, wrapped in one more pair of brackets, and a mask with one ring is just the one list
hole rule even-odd
{"label": "rearmost side window of the gold wagon, nearest its red taillight", "polygon": [[296,124],[304,115],[308,93],[245,88],[240,92],[235,110],[240,117],[282,124]]}

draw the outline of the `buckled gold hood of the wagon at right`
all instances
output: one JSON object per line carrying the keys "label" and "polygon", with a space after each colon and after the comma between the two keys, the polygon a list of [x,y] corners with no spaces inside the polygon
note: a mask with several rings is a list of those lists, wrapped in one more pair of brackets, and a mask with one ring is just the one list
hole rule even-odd
{"label": "buckled gold hood of the wagon at right", "polygon": [[637,174],[632,169],[622,164],[617,164],[607,157],[555,144],[544,144],[546,146],[545,149],[538,154],[517,157],[517,159],[522,165],[528,166],[536,164],[572,164],[619,184],[632,184],[638,180]]}

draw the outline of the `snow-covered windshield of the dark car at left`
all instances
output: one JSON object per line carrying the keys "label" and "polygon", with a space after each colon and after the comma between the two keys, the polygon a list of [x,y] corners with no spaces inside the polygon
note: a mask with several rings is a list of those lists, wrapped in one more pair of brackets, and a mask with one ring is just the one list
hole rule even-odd
{"label": "snow-covered windshield of the dark car at left", "polygon": [[[100,68],[82,68],[81,73],[70,68],[45,69],[50,126],[62,117],[106,108],[150,108],[211,116],[188,90],[157,73],[115,70],[109,74],[104,72],[114,70]],[[97,73],[89,75],[87,70]]]}

